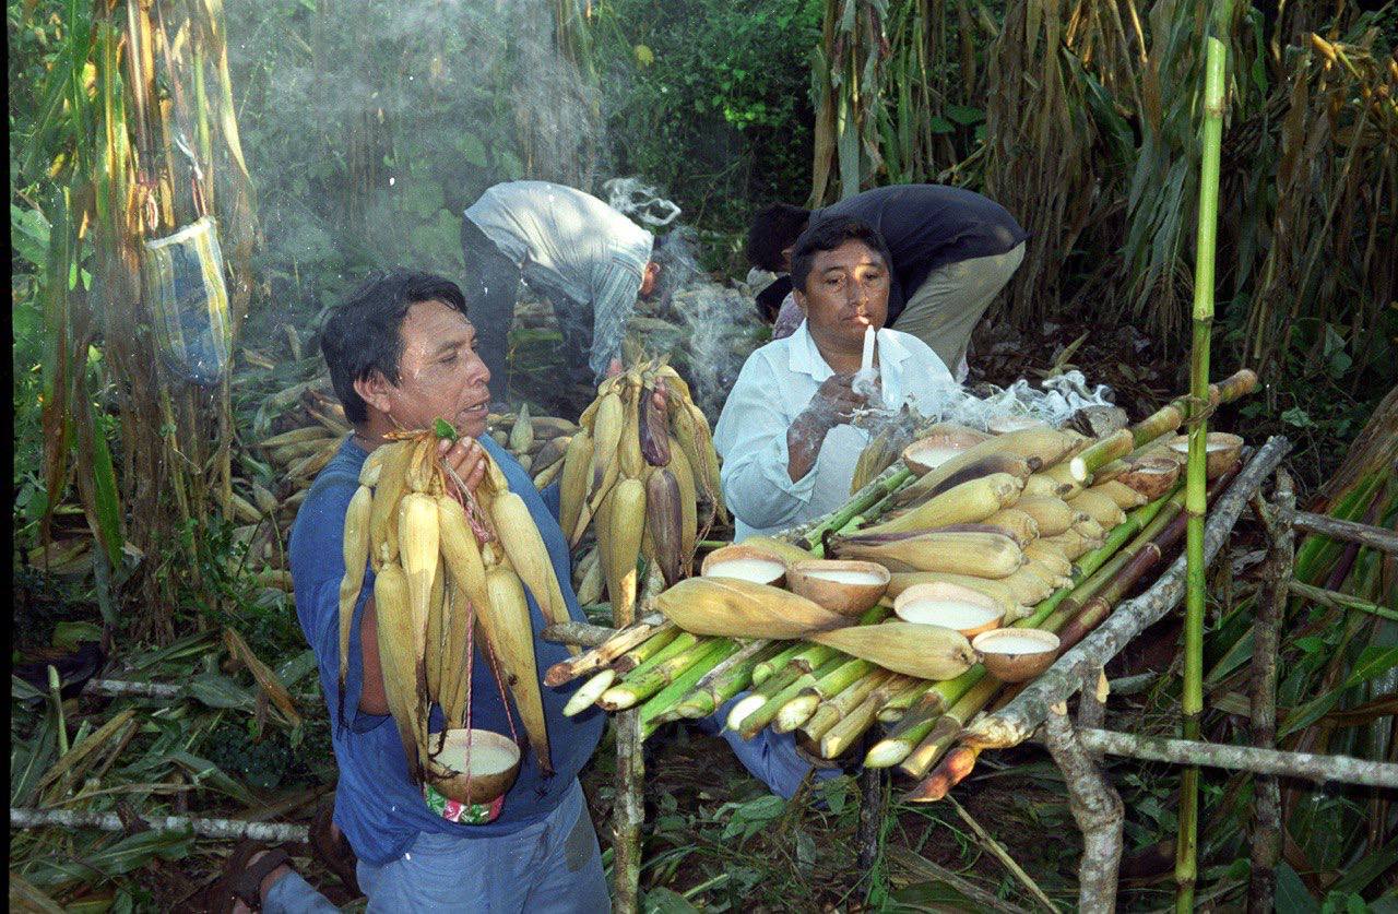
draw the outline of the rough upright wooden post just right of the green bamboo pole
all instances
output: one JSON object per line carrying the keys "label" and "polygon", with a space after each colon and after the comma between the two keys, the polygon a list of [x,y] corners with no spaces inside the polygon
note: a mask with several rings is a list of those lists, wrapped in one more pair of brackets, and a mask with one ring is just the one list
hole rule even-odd
{"label": "rough upright wooden post just right of the green bamboo pole", "polygon": [[[1275,509],[1261,499],[1254,507],[1267,527],[1267,565],[1257,591],[1257,621],[1253,628],[1251,737],[1258,749],[1276,745],[1276,648],[1286,615],[1286,583],[1296,563],[1296,537],[1290,517],[1296,492],[1285,470],[1276,471]],[[1248,876],[1247,910],[1269,914],[1276,897],[1276,862],[1282,853],[1282,791],[1275,774],[1253,780],[1253,869]]]}

